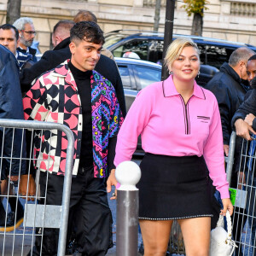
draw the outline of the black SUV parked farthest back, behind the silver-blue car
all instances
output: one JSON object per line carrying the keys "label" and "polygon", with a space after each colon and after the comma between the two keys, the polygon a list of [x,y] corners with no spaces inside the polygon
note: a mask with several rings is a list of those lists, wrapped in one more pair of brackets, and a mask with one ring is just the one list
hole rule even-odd
{"label": "black SUV parked farthest back, behind the silver-blue car", "polygon": [[[256,47],[249,44],[230,42],[221,39],[203,38],[174,34],[173,38],[192,38],[201,50],[201,64],[219,68],[224,61],[229,61],[234,49],[247,46],[256,52]],[[141,60],[158,62],[162,60],[164,34],[160,32],[140,32],[134,30],[116,30],[105,35],[104,47],[113,56],[122,57],[125,52],[135,52]]]}

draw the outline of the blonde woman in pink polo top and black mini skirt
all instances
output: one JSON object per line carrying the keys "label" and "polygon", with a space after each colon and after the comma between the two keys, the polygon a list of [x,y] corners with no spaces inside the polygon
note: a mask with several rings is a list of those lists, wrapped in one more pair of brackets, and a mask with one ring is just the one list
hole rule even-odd
{"label": "blonde woman in pink polo top and black mini skirt", "polygon": [[[224,209],[233,212],[224,172],[218,102],[195,82],[200,59],[196,44],[177,38],[166,52],[170,76],[141,90],[122,125],[115,166],[131,160],[141,134],[146,152],[139,189],[139,223],[145,256],[166,255],[172,228],[180,224],[187,255],[208,255],[212,203],[210,178]],[[108,178],[116,185],[114,171]]]}

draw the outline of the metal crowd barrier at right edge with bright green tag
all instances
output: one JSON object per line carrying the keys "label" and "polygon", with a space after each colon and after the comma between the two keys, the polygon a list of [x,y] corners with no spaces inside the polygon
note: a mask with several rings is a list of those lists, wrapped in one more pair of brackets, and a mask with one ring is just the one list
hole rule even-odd
{"label": "metal crowd barrier at right edge with bright green tag", "polygon": [[[245,139],[241,143],[241,156],[237,175],[236,188],[230,188],[231,201],[234,204],[233,239],[238,246],[236,255],[254,256],[256,255],[256,172],[255,170],[255,144],[256,141],[249,142]],[[236,147],[236,133],[233,132],[230,138],[230,152],[227,166],[227,178],[231,182],[232,167]],[[240,174],[240,175],[239,175]],[[239,178],[240,177],[240,178]],[[236,219],[236,223],[234,222]],[[241,225],[239,233],[238,226]],[[240,239],[237,239],[237,236]]]}

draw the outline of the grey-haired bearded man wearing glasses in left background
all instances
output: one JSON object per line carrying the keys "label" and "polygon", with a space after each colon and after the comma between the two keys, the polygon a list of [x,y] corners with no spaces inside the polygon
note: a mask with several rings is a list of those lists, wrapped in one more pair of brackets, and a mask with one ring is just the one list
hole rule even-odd
{"label": "grey-haired bearded man wearing glasses in left background", "polygon": [[20,67],[22,67],[24,62],[28,60],[37,62],[37,50],[31,47],[37,33],[35,32],[32,19],[28,17],[22,17],[15,21],[14,26],[19,30],[20,35],[20,43],[17,48],[17,60]]}

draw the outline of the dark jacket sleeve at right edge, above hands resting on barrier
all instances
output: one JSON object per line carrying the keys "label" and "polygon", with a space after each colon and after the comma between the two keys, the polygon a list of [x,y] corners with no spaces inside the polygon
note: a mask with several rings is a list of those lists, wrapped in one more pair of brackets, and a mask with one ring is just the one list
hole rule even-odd
{"label": "dark jacket sleeve at right edge, above hands resting on barrier", "polygon": [[[256,89],[252,90],[250,96],[237,109],[232,119],[232,127],[237,119],[245,119],[248,113],[253,113],[256,116]],[[256,119],[253,120],[253,130],[256,131]]]}

